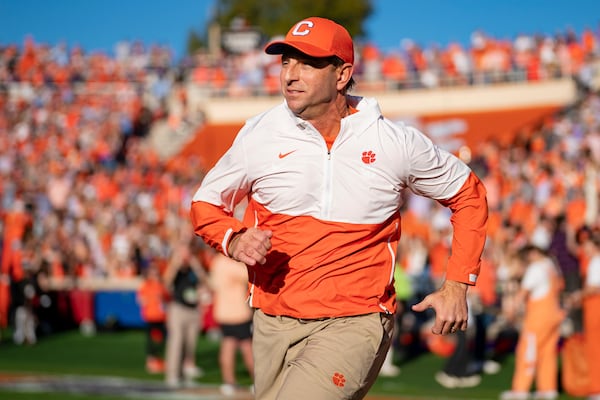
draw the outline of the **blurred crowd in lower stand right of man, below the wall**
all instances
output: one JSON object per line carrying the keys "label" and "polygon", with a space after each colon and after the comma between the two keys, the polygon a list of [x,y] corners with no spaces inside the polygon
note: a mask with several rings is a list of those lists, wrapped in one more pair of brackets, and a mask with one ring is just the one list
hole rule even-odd
{"label": "blurred crowd in lower stand right of man, below the wall", "polygon": [[[532,265],[528,256],[532,248],[551,260],[563,282],[559,301],[566,314],[556,327],[557,335],[560,331],[568,338],[584,330],[581,305],[572,299],[585,286],[594,244],[600,239],[600,96],[588,92],[509,145],[484,142],[474,155],[470,164],[485,183],[490,212],[481,275],[469,291],[472,315],[466,347],[471,374],[476,375],[486,365],[497,372],[516,348],[527,304],[520,292]],[[400,264],[412,289],[405,304],[414,304],[443,280],[452,239],[449,217],[448,210],[436,203],[408,198],[399,247]],[[414,329],[428,327],[415,324],[414,318],[401,316],[404,343],[414,342]],[[452,340],[418,333],[430,341],[429,350],[446,357],[452,354]],[[440,382],[460,387],[460,381]]]}

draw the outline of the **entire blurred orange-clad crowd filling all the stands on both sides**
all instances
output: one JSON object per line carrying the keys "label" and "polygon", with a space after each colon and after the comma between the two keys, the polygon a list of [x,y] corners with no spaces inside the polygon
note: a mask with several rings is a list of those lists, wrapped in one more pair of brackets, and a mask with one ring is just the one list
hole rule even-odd
{"label": "entire blurred orange-clad crowd filling all the stands on both sides", "polygon": [[[520,250],[528,245],[554,257],[565,291],[580,288],[582,245],[600,231],[600,96],[589,90],[599,33],[508,41],[475,32],[469,48],[424,48],[409,40],[387,52],[372,43],[357,48],[359,88],[560,77],[583,83],[576,104],[509,145],[480,143],[469,160],[490,209],[481,280],[471,299],[488,316],[486,329],[518,324],[512,295],[525,268]],[[141,43],[121,43],[114,56],[33,38],[0,43],[0,327],[9,325],[11,307],[43,306],[33,303],[35,293],[60,282],[141,280],[151,264],[164,271],[182,243],[201,254],[188,214],[203,171],[193,159],[168,168],[149,133],[158,122],[172,129],[201,123],[187,99],[190,87],[207,96],[277,94],[278,67],[261,49],[200,52],[176,62],[168,48]],[[443,277],[447,212],[406,198],[398,251],[413,296]],[[571,321],[581,329],[575,312]]]}

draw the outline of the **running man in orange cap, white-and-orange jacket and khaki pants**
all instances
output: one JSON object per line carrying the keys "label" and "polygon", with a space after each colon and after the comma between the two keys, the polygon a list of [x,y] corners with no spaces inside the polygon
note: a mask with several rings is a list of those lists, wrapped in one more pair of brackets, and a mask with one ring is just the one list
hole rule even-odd
{"label": "running man in orange cap, white-and-orange jacket and khaki pants", "polygon": [[[312,17],[281,54],[285,102],[248,120],[192,200],[194,231],[245,263],[255,308],[258,399],[360,399],[393,331],[401,193],[453,211],[448,280],[413,306],[433,308],[434,333],[467,327],[466,292],[485,240],[485,189],[456,157],[353,97],[345,28]],[[243,221],[232,217],[248,199]]]}

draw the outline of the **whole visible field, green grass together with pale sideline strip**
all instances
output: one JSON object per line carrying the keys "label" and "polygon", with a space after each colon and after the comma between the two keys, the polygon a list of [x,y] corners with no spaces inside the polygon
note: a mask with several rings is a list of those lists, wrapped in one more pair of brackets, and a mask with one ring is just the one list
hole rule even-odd
{"label": "whole visible field, green grass together with pale sideline strip", "polygon": [[[144,336],[140,330],[100,332],[85,337],[78,331],[56,333],[33,346],[0,342],[0,399],[25,400],[209,400],[219,394],[218,342],[201,337],[198,365],[205,375],[190,386],[172,390],[163,385],[162,375],[144,370]],[[497,375],[486,375],[471,389],[445,389],[433,378],[444,359],[423,354],[401,363],[398,377],[379,378],[368,400],[495,400],[510,386],[513,360],[509,358]],[[241,384],[251,382],[238,363]],[[252,399],[249,391],[236,397]],[[574,399],[561,395],[561,400]]]}

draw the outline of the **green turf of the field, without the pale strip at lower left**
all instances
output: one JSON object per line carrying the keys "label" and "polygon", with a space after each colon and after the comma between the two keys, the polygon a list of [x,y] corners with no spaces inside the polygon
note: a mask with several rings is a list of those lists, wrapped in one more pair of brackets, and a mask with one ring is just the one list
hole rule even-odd
{"label": "green turf of the field, without the pale strip at lower left", "polygon": [[[202,337],[198,343],[198,365],[205,375],[199,384],[220,384],[217,365],[218,343]],[[471,389],[445,389],[433,378],[443,366],[444,359],[424,354],[401,364],[402,372],[394,378],[380,377],[368,399],[497,399],[500,392],[510,386],[513,360],[509,358],[497,375],[485,375],[481,385]],[[241,383],[250,380],[239,363],[238,376]],[[57,333],[42,338],[34,346],[15,346],[5,339],[0,342],[0,384],[14,375],[47,376],[67,375],[89,378],[118,377],[160,384],[162,375],[149,375],[144,369],[144,335],[140,330],[100,332],[93,337],[82,336],[79,331]],[[0,385],[0,399],[24,400],[125,400],[130,395],[92,395],[48,391],[28,392]],[[148,396],[139,397],[147,400]],[[153,397],[155,398],[155,397]],[[214,398],[214,397],[211,397]],[[561,400],[573,399],[561,395]]]}

